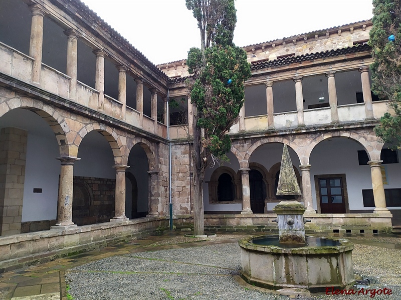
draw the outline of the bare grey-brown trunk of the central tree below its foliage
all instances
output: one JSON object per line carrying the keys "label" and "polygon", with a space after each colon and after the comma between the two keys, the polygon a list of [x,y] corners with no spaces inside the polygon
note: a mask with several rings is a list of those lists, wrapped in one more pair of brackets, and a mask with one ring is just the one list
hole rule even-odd
{"label": "bare grey-brown trunk of the central tree below its foliage", "polygon": [[194,181],[194,199],[193,199],[193,234],[204,235],[204,170],[202,155],[200,153],[200,132],[201,129],[196,125],[197,111],[193,111],[193,181]]}

